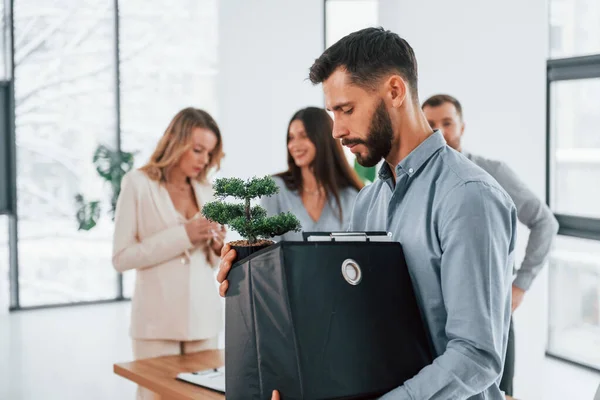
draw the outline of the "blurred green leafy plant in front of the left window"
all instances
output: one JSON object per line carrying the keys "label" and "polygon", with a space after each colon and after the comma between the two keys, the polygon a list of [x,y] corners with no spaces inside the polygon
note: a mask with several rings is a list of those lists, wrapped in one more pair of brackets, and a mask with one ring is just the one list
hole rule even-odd
{"label": "blurred green leafy plant in front of the left window", "polygon": [[[121,180],[133,168],[133,161],[134,153],[113,150],[104,145],[98,146],[94,152],[92,162],[96,167],[96,171],[109,184],[111,190],[109,212],[113,220],[121,191]],[[89,231],[95,227],[102,211],[100,201],[87,202],[84,196],[79,193],[75,196],[75,204],[77,205],[78,230]]]}

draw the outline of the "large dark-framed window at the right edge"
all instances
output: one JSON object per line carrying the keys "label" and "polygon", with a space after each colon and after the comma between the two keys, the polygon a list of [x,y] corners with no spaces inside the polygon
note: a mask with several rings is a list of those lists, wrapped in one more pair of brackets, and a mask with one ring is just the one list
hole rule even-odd
{"label": "large dark-framed window at the right edge", "polygon": [[548,354],[600,370],[600,2],[550,1]]}

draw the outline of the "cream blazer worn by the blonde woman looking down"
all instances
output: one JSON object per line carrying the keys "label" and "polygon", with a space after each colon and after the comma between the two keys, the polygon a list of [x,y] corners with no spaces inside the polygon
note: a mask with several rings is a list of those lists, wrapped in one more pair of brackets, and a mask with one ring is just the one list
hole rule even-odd
{"label": "cream blazer worn by the blonde woman looking down", "polygon": [[[210,185],[194,182],[198,208],[213,199]],[[214,278],[218,257],[195,248],[164,185],[139,170],[122,180],[115,212],[112,262],[136,270],[131,306],[133,339],[200,340],[223,327]]]}

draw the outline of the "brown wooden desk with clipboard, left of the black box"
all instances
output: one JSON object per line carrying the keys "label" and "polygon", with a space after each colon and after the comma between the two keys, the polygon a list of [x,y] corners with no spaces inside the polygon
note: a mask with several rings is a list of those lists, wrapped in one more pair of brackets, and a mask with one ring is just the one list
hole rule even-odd
{"label": "brown wooden desk with clipboard, left of the black box", "polygon": [[177,379],[180,372],[218,368],[224,364],[222,350],[202,351],[182,356],[165,356],[115,364],[113,371],[161,395],[165,400],[223,400],[225,395]]}

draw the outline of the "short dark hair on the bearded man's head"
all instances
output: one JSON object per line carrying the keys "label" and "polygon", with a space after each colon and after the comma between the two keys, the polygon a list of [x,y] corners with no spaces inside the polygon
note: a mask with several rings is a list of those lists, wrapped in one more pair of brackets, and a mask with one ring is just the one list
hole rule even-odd
{"label": "short dark hair on the bearded man's head", "polygon": [[338,68],[350,74],[352,83],[374,89],[390,73],[402,76],[417,96],[417,59],[408,42],[383,28],[366,28],[343,37],[310,67],[313,84],[327,80]]}

